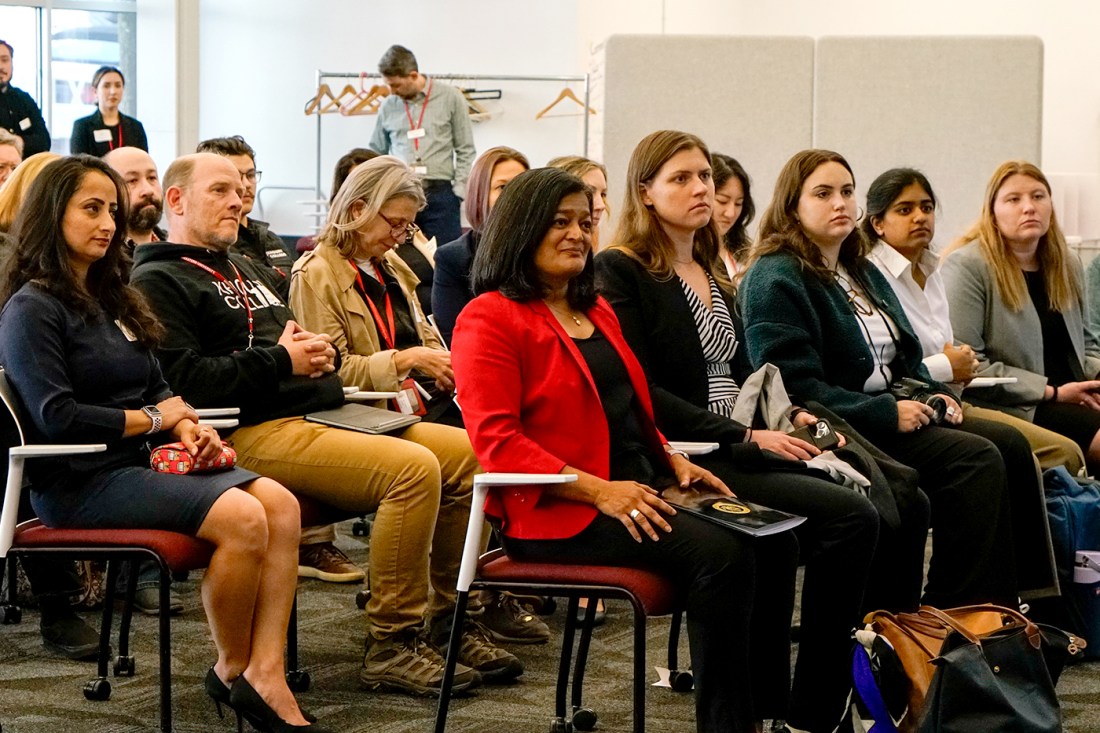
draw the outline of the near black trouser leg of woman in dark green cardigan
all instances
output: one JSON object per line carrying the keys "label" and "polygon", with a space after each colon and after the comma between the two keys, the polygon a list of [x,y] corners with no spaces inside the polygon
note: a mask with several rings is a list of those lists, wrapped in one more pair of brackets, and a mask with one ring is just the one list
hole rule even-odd
{"label": "near black trouser leg of woman in dark green cardigan", "polygon": [[876,437],[921,475],[932,502],[932,564],[923,602],[1016,604],[1004,461],[992,442],[953,427]]}

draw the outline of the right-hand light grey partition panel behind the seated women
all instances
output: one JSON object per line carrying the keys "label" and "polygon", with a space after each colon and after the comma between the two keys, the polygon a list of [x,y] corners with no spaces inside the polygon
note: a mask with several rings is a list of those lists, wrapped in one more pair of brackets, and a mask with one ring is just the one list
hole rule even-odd
{"label": "right-hand light grey partition panel behind the seated women", "polygon": [[823,37],[814,145],[836,150],[867,187],[890,167],[922,169],[939,200],[935,245],[972,223],[1008,158],[1040,164],[1043,44],[1032,36]]}

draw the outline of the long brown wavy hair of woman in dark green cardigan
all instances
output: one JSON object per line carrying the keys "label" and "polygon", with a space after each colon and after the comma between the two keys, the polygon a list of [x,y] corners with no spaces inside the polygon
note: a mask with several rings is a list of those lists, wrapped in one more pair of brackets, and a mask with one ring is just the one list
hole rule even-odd
{"label": "long brown wavy hair of woman in dark green cardigan", "polygon": [[[851,176],[853,184],[856,183],[856,174],[851,172],[851,166],[840,153],[831,150],[804,150],[795,153],[783,165],[779,178],[776,179],[776,192],[763,211],[757,242],[749,251],[746,271],[766,254],[790,252],[799,259],[803,269],[810,270],[823,282],[833,281],[833,271],[825,266],[821,250],[806,236],[796,214],[806,178],[826,163],[839,163]],[[857,225],[840,242],[839,262],[849,272],[855,273],[860,270],[861,260],[867,256],[870,249],[864,231]]]}

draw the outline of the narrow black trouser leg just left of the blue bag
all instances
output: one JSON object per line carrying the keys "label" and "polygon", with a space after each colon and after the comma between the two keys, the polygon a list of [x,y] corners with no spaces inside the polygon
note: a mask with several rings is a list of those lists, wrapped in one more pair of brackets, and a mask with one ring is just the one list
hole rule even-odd
{"label": "narrow black trouser leg just left of the blue bag", "polygon": [[1004,461],[1016,587],[1053,594],[1057,571],[1047,544],[1043,479],[1027,438],[1011,425],[977,417],[968,417],[957,429],[990,440]]}

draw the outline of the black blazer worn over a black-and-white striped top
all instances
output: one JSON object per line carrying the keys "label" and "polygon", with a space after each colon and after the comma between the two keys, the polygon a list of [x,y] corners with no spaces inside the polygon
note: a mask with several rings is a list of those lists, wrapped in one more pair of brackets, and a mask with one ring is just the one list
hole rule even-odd
{"label": "black blazer worn over a black-and-white striped top", "polygon": [[[703,344],[680,283],[656,280],[641,263],[617,250],[601,252],[595,262],[600,293],[615,309],[623,335],[649,378],[660,429],[673,440],[743,444],[746,426],[707,409]],[[723,294],[723,299],[736,314],[733,298]],[[730,363],[738,381],[751,373],[744,354],[739,347]]]}

